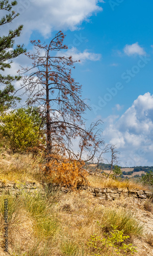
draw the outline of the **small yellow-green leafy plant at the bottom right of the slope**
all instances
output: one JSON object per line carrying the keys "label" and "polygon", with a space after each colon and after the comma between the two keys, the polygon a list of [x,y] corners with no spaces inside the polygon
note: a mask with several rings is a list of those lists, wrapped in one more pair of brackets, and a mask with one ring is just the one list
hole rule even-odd
{"label": "small yellow-green leafy plant at the bottom right of the slope", "polygon": [[[97,222],[98,223],[98,222]],[[98,225],[100,225],[98,223]],[[101,225],[100,225],[101,226]],[[97,234],[93,234],[90,237],[87,245],[90,247],[90,253],[94,256],[101,256],[101,253],[105,256],[115,256],[115,255],[127,255],[127,253],[133,254],[137,252],[136,247],[132,244],[125,244],[124,241],[129,238],[129,236],[124,236],[124,230],[117,230],[117,226],[112,225],[113,230],[109,233],[104,233],[105,238],[98,237]],[[109,253],[109,254],[108,254]],[[111,254],[110,254],[111,253]],[[125,254],[122,254],[125,253]]]}

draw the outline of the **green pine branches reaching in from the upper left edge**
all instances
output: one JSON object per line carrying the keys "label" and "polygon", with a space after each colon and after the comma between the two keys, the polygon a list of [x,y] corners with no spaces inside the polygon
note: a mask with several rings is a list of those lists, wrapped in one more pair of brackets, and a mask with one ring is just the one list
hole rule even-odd
{"label": "green pine branches reaching in from the upper left edge", "polygon": [[[3,16],[0,20],[0,26],[6,25],[7,23],[11,23],[12,20],[19,15],[19,13],[15,13],[12,10],[12,7],[17,5],[16,1],[11,2],[9,4],[8,0],[0,1],[0,11],[8,11],[9,14]],[[20,100],[20,98],[13,96],[15,92],[15,88],[12,84],[14,81],[18,81],[20,76],[11,76],[11,75],[3,75],[3,71],[6,68],[11,68],[12,59],[17,57],[18,55],[26,52],[23,45],[17,45],[14,47],[15,38],[20,36],[20,32],[23,26],[20,25],[14,31],[9,30],[7,36],[2,36],[0,34],[0,86],[5,86],[4,90],[0,90],[0,112],[7,110],[10,106],[15,106],[16,100]]]}

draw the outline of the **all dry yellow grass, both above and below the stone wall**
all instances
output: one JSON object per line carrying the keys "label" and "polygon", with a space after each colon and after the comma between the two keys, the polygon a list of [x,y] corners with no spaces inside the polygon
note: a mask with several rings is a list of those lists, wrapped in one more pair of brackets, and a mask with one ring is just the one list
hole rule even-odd
{"label": "all dry yellow grass, both above and below the stone wall", "polygon": [[[34,159],[30,155],[5,156],[2,154],[0,160],[0,179],[5,182],[40,182],[43,178],[38,167],[40,157]],[[89,176],[88,179],[93,187],[142,188],[141,185],[131,182],[121,183],[97,176]],[[56,193],[52,191],[50,194],[46,191],[44,195],[37,192],[32,196],[26,195],[23,190],[17,198],[13,195],[1,195],[1,255],[4,253],[5,198],[8,198],[9,205],[9,252],[11,256],[89,256],[91,253],[87,242],[90,236],[97,233],[98,236],[104,237],[104,231],[97,225],[97,221],[105,223],[104,228],[108,230],[110,220],[115,214],[116,220],[122,223],[121,218],[124,216],[122,212],[125,203],[127,204],[127,200],[122,199],[118,207],[115,201],[93,198],[88,191],[74,191],[68,194],[60,190]],[[127,218],[132,219],[133,217],[128,215],[128,210],[126,212]],[[140,224],[133,221],[131,233],[134,232],[136,236],[140,236],[141,232],[133,229],[135,227],[135,230],[139,230],[139,228],[136,229],[137,226],[139,227]],[[142,231],[141,228],[140,231]],[[101,256],[105,255],[104,250]]]}

